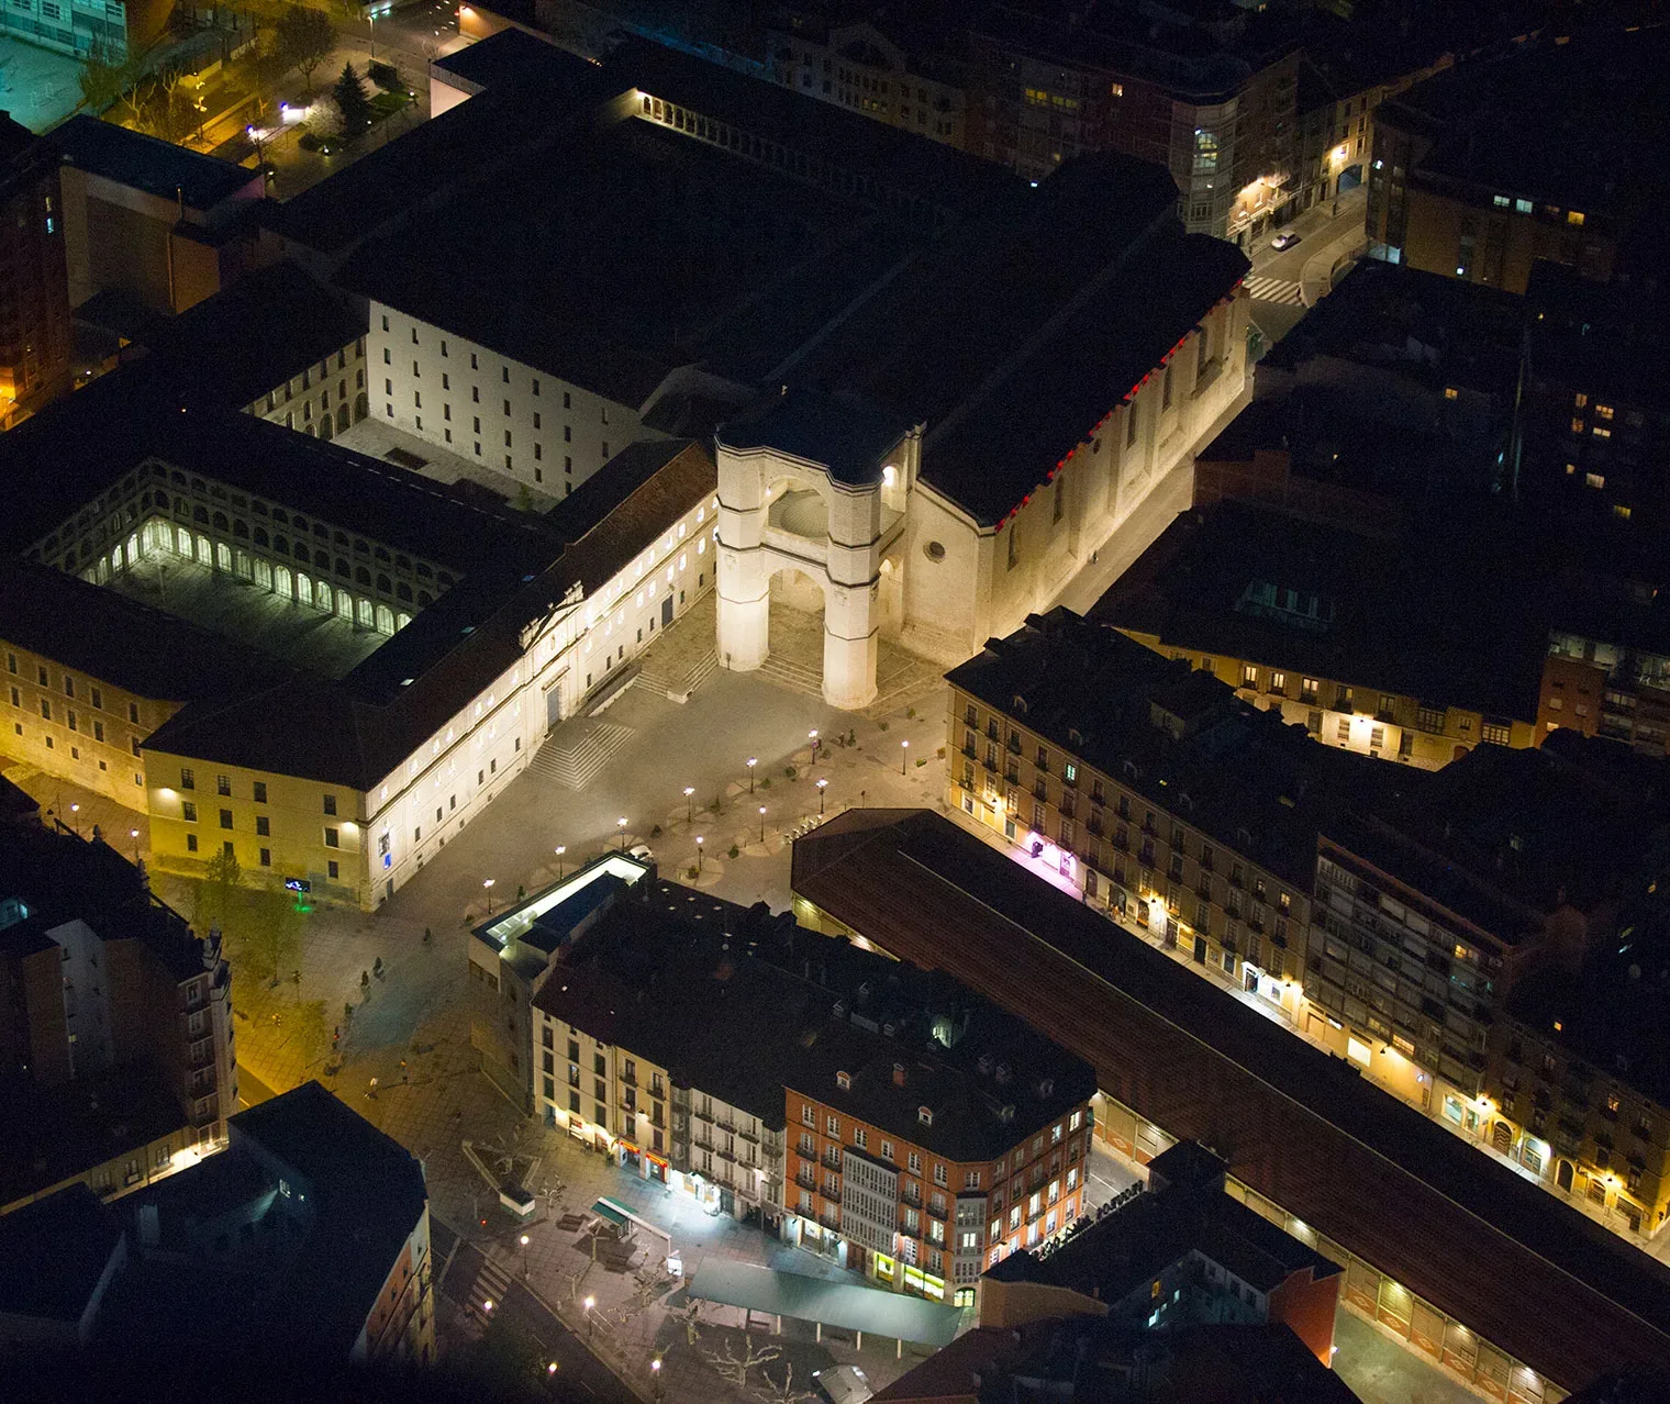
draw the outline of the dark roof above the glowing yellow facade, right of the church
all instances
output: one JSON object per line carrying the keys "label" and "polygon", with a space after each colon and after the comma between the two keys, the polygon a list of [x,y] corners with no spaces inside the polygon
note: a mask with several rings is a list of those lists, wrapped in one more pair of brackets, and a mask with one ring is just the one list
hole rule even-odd
{"label": "dark roof above the glowing yellow facade, right of the church", "polygon": [[[1164,648],[1535,721],[1550,574],[1488,513],[1384,541],[1224,501],[1181,513],[1089,616]],[[1313,594],[1331,621],[1298,628],[1242,608],[1254,586]]]}

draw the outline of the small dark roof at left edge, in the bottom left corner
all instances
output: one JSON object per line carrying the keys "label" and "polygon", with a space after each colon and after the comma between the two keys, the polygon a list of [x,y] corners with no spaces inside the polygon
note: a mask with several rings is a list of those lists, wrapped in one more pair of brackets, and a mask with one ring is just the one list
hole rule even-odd
{"label": "small dark roof at left edge, in the bottom left corner", "polygon": [[0,1219],[0,1314],[75,1326],[122,1229],[85,1184]]}

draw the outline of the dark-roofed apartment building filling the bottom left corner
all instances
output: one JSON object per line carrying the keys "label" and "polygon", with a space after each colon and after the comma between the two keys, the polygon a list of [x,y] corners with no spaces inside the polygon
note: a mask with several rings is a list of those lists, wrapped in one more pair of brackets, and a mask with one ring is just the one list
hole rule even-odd
{"label": "dark-roofed apartment building filling the bottom left corner", "polygon": [[0,1285],[0,1337],[55,1327],[94,1359],[190,1354],[269,1382],[434,1361],[423,1164],[317,1082],[237,1114],[225,1149],[127,1199],[60,1192],[0,1219],[0,1254],[32,1250],[27,1311]]}

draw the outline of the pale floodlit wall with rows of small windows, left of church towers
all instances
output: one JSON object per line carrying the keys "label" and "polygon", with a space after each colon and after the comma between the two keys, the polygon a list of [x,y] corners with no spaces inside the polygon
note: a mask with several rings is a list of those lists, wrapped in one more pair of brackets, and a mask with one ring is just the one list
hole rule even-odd
{"label": "pale floodlit wall with rows of small windows, left of church towers", "polygon": [[371,304],[371,414],[561,497],[646,431],[635,406],[534,371],[478,342]]}

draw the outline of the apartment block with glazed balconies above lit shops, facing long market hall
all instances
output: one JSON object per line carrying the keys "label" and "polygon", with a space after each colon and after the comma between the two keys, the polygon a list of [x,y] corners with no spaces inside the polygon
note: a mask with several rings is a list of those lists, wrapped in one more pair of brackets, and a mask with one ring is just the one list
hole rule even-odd
{"label": "apartment block with glazed balconies above lit shops, facing long market hall", "polygon": [[1526,975],[1570,978],[1617,940],[1663,831],[1658,801],[1592,760],[1607,743],[1560,741],[1480,748],[1326,823],[1304,972],[1316,1037],[1533,1177],[1546,1142],[1491,1115],[1493,1030]]}

